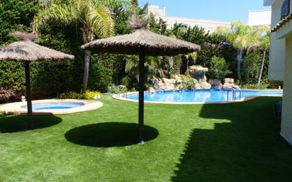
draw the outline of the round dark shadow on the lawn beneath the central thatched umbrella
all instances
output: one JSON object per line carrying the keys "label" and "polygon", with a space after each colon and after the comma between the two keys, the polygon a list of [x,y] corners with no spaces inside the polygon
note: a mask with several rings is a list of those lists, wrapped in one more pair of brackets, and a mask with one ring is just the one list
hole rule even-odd
{"label": "round dark shadow on the lawn beneath the central thatched umbrella", "polygon": [[[145,142],[159,135],[154,127],[145,125]],[[97,123],[75,127],[65,134],[74,144],[89,147],[124,147],[137,144],[138,125],[135,123]]]}

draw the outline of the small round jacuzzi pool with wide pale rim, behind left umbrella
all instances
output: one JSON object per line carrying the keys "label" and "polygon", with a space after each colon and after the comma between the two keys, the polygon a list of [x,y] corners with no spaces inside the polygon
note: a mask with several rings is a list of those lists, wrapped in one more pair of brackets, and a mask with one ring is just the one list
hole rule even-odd
{"label": "small round jacuzzi pool with wide pale rim, behind left umbrella", "polygon": [[[33,115],[62,115],[81,113],[88,110],[101,108],[103,103],[99,101],[77,99],[47,99],[33,101]],[[27,103],[6,103],[0,106],[0,112],[14,115],[26,115]]]}

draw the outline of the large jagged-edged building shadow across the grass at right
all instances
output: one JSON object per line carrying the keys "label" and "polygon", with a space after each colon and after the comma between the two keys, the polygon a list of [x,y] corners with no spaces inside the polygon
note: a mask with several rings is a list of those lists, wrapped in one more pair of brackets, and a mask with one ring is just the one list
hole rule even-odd
{"label": "large jagged-edged building shadow across the grass at right", "polygon": [[192,130],[172,181],[291,181],[292,147],[274,115],[280,99],[203,106],[200,116],[215,119],[214,128]]}

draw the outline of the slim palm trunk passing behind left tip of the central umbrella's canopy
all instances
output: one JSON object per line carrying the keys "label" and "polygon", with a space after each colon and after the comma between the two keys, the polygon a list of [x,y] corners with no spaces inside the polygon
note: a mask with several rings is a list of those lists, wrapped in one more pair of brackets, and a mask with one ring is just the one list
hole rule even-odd
{"label": "slim palm trunk passing behind left tip of the central umbrella's canopy", "polygon": [[[91,28],[89,28],[86,25],[84,25],[84,28],[83,28],[83,42],[84,42],[84,44],[89,43],[92,40],[94,40],[94,32],[91,30]],[[90,57],[91,57],[91,51],[90,50],[85,50],[82,93],[85,93],[86,89],[87,89]]]}

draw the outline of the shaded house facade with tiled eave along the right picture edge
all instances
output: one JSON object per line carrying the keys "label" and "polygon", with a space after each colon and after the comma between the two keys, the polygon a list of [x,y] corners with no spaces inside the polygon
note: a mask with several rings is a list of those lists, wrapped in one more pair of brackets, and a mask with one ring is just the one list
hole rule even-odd
{"label": "shaded house facade with tiled eave along the right picture edge", "polygon": [[283,80],[281,136],[292,145],[292,4],[290,0],[264,0],[271,6],[269,79]]}

